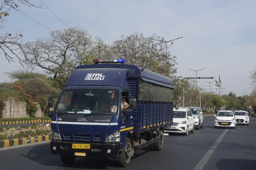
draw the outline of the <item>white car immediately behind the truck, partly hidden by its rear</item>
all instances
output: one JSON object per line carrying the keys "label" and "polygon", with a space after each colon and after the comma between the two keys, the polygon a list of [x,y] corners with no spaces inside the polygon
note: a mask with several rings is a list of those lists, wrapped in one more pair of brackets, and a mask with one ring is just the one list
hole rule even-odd
{"label": "white car immediately behind the truck, partly hidden by its rear", "polygon": [[190,109],[175,108],[173,112],[173,122],[170,127],[164,128],[165,133],[183,133],[188,135],[188,131],[194,133],[194,116]]}

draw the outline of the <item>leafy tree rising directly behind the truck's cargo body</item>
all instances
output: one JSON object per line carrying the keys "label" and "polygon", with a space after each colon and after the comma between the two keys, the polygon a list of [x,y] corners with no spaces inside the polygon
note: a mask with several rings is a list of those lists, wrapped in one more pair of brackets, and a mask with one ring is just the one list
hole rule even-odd
{"label": "leafy tree rising directly behind the truck's cargo body", "polygon": [[127,64],[171,77],[177,72],[176,57],[171,56],[170,52],[166,55],[167,49],[162,41],[164,39],[156,35],[121,35],[121,40],[113,43],[112,50],[115,56],[126,59]]}

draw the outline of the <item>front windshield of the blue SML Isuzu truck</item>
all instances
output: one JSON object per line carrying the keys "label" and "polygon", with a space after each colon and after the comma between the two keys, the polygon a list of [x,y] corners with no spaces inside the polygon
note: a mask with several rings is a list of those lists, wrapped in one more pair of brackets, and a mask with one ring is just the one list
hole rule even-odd
{"label": "front windshield of the blue SML Isuzu truck", "polygon": [[62,92],[57,102],[56,113],[116,114],[118,110],[117,90],[74,89]]}

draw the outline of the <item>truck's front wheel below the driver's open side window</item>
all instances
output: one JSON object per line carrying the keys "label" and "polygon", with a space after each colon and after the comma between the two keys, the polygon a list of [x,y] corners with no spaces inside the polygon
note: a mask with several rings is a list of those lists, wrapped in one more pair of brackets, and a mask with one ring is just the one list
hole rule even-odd
{"label": "truck's front wheel below the driver's open side window", "polygon": [[118,155],[118,166],[127,167],[132,157],[132,144],[129,138],[126,138],[124,150]]}

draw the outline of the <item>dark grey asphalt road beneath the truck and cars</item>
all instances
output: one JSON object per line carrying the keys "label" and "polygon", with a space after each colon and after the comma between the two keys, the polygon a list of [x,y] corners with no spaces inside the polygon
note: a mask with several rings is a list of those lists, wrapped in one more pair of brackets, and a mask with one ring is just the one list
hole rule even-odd
{"label": "dark grey asphalt road beneath the truck and cars", "polygon": [[162,151],[135,151],[126,168],[115,160],[76,158],[63,164],[50,153],[50,143],[28,144],[0,150],[1,170],[255,170],[256,118],[236,129],[215,129],[213,116],[205,116],[204,127],[194,133],[169,135]]}

